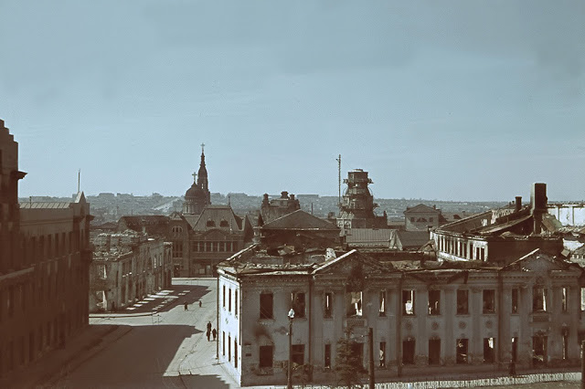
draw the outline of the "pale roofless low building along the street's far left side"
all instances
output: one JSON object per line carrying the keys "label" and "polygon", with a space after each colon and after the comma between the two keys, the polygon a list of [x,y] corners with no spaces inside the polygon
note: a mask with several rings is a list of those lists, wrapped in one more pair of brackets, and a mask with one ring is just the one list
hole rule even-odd
{"label": "pale roofless low building along the street's far left side", "polygon": [[171,286],[171,244],[128,230],[100,234],[90,268],[91,312],[129,307]]}

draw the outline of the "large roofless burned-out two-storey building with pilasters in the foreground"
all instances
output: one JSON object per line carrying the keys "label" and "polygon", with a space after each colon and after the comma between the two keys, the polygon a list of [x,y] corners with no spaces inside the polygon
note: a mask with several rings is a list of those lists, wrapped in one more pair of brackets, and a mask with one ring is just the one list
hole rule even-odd
{"label": "large roofless burned-out two-storey building with pilasters in the foreground", "polygon": [[218,273],[219,361],[241,385],[284,384],[289,351],[293,384],[335,384],[336,342],[348,332],[367,366],[368,328],[380,380],[421,367],[440,375],[580,362],[582,269],[539,249],[487,266],[249,247]]}

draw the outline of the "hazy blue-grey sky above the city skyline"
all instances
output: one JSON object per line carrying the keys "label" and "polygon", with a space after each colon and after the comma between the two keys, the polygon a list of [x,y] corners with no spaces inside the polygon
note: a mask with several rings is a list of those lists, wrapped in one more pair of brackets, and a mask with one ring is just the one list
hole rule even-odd
{"label": "hazy blue-grey sky above the city skyline", "polygon": [[0,0],[20,195],[585,199],[585,2]]}

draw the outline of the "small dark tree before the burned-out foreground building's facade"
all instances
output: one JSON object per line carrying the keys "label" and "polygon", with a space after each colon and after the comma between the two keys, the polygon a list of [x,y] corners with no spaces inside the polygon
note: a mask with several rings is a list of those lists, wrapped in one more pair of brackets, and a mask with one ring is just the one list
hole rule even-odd
{"label": "small dark tree before the burned-out foreground building's facade", "polygon": [[351,329],[346,335],[337,341],[335,354],[335,372],[338,377],[338,384],[349,389],[361,388],[362,377],[365,373],[362,355],[357,352],[358,343],[350,338]]}

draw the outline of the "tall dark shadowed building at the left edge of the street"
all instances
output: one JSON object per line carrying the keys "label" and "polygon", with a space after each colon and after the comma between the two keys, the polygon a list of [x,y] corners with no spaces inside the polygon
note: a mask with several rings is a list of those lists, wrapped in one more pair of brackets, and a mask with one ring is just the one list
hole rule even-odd
{"label": "tall dark shadowed building at the left edge of the street", "polygon": [[0,121],[0,386],[88,325],[90,205],[17,203],[17,143]]}

